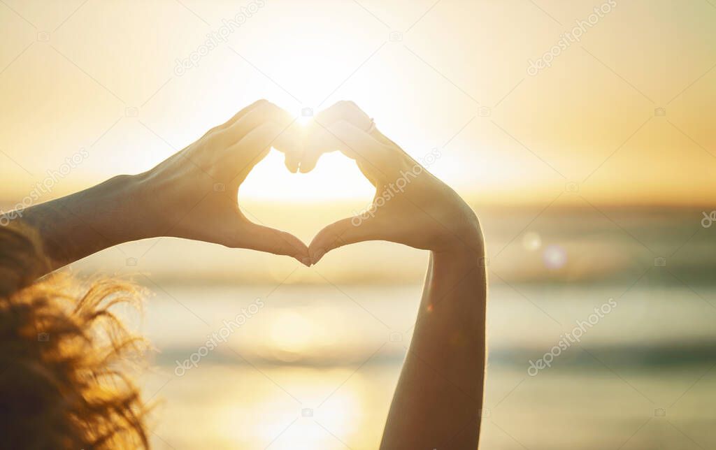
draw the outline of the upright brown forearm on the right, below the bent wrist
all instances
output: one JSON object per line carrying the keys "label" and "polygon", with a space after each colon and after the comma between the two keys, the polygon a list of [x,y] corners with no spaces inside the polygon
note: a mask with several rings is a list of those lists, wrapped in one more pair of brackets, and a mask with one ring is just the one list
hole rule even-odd
{"label": "upright brown forearm on the right, below the bent wrist", "polygon": [[482,256],[431,254],[381,449],[477,449],[485,378]]}

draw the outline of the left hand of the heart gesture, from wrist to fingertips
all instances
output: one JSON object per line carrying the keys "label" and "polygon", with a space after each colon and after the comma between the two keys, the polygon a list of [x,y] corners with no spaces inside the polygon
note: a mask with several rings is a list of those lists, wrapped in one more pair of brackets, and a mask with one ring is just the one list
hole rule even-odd
{"label": "left hand of the heart gesture, from wrist to fingertips", "polygon": [[251,222],[237,202],[238,187],[271,146],[300,154],[300,136],[291,128],[294,120],[284,109],[259,100],[137,175],[141,202],[154,228],[151,234],[288,255],[309,265],[308,248],[301,240]]}

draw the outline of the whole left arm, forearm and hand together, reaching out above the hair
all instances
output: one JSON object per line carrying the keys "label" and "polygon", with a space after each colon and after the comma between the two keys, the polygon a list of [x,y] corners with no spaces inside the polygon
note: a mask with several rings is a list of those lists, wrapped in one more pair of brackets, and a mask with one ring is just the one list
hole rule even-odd
{"label": "whole left arm, forearm and hand together, reaching out above the hair", "polygon": [[251,222],[236,200],[238,187],[271,146],[299,145],[289,130],[293,122],[283,109],[260,100],[152,170],[113,177],[7,217],[38,230],[52,269],[112,245],[158,236],[288,255],[309,265],[301,240]]}

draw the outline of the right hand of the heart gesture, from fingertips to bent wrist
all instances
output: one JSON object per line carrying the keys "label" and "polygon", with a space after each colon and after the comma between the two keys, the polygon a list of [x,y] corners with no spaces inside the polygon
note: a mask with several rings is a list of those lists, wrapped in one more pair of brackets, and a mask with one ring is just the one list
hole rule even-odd
{"label": "right hand of the heart gesture, from fingertips to bent wrist", "polygon": [[[365,240],[483,255],[483,238],[473,210],[379,132],[353,102],[338,102],[316,116],[301,172],[311,170],[321,153],[332,150],[356,160],[376,193],[367,210],[328,225],[316,235],[309,245],[312,263],[334,248]],[[436,152],[426,155],[426,160],[440,157]]]}

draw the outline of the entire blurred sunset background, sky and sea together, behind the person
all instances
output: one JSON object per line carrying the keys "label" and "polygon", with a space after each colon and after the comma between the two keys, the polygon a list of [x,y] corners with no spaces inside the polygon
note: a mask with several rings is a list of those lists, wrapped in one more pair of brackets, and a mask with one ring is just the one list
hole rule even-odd
{"label": "entire blurred sunset background, sky and sea together, behind the person", "polygon": [[[4,0],[0,207],[148,170],[259,98],[352,99],[417,160],[437,149],[428,170],[483,225],[481,448],[710,449],[715,21],[708,0]],[[294,175],[275,150],[239,192],[306,242],[371,196],[340,155]],[[155,347],[155,448],[357,450],[379,443],[427,258],[362,243],[305,268],[158,238],[69,270],[147,289],[126,314]]]}

